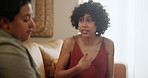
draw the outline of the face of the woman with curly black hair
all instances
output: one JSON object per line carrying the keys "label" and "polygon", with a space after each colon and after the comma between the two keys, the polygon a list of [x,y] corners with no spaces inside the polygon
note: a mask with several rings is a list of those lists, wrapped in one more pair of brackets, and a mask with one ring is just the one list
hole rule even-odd
{"label": "face of the woman with curly black hair", "polygon": [[78,29],[83,36],[90,37],[96,35],[96,23],[91,15],[84,14],[79,18]]}

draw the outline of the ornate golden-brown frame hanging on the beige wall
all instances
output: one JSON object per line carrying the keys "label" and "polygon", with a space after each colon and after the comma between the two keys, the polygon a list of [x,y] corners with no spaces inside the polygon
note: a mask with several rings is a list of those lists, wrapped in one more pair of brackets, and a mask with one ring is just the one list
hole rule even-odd
{"label": "ornate golden-brown frame hanging on the beige wall", "polygon": [[33,0],[33,19],[36,27],[32,37],[52,37],[53,35],[53,0]]}

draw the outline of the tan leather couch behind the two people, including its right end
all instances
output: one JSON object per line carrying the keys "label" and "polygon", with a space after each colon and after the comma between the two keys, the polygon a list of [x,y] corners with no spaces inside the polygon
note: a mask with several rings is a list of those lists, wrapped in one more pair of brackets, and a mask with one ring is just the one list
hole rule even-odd
{"label": "tan leather couch behind the two people, including its right end", "polygon": [[[23,44],[33,57],[42,78],[54,78],[63,40],[50,40],[44,43],[24,42]],[[114,78],[126,78],[125,65],[115,63],[114,66]]]}

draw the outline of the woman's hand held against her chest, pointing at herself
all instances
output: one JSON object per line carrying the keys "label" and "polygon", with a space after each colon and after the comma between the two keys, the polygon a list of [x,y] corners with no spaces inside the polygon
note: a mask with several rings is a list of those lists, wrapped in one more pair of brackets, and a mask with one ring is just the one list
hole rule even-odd
{"label": "woman's hand held against her chest, pointing at herself", "polygon": [[92,57],[88,56],[88,53],[84,54],[84,56],[80,59],[77,66],[80,68],[80,70],[84,70],[86,68],[89,68],[92,62]]}

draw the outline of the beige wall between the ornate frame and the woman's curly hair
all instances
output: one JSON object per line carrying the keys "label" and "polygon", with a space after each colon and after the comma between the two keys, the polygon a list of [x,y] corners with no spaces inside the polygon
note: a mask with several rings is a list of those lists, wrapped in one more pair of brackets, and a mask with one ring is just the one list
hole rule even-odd
{"label": "beige wall between the ornate frame and the woman's curly hair", "polygon": [[72,27],[70,16],[73,8],[78,4],[78,0],[54,0],[53,6],[53,36],[51,38],[31,37],[28,41],[46,42],[54,39],[64,40],[77,34]]}

